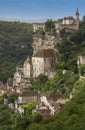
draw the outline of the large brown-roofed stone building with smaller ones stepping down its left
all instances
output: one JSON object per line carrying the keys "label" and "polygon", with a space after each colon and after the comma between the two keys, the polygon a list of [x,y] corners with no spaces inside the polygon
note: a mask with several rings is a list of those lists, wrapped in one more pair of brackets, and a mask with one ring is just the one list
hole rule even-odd
{"label": "large brown-roofed stone building with smaller ones stepping down its left", "polygon": [[[14,73],[13,86],[30,86],[30,79],[36,78],[40,74],[45,74],[52,78],[56,71],[52,69],[56,62],[56,52],[54,49],[39,49],[31,59],[25,60],[23,69],[17,68]],[[26,85],[27,84],[27,85]]]}

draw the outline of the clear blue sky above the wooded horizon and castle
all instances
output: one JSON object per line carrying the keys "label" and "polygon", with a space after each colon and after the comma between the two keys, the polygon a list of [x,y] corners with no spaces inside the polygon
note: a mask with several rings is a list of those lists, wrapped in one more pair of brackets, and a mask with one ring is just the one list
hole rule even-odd
{"label": "clear blue sky above the wooded horizon and castle", "polygon": [[43,21],[85,15],[85,0],[0,0],[0,19]]}

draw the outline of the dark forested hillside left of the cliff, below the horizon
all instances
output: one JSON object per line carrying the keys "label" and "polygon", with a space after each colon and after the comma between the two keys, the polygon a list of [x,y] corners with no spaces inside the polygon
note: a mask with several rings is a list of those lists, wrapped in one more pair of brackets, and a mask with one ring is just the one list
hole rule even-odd
{"label": "dark forested hillside left of the cliff, below the horizon", "polygon": [[0,80],[13,76],[16,65],[32,55],[32,24],[0,21]]}

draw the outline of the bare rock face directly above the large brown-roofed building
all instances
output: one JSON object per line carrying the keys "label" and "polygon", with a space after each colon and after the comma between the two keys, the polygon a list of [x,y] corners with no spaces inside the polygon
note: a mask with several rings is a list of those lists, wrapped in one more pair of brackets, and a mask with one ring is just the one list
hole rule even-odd
{"label": "bare rock face directly above the large brown-roofed building", "polygon": [[42,36],[34,36],[33,54],[41,49],[54,49],[57,45],[57,42],[57,37],[52,34],[46,33],[44,38]]}

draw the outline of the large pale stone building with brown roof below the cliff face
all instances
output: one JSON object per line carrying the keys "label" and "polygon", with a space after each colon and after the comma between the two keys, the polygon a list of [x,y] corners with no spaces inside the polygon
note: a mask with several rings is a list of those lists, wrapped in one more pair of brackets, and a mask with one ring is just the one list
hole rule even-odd
{"label": "large pale stone building with brown roof below the cliff face", "polygon": [[47,74],[55,61],[55,53],[53,49],[41,49],[36,52],[32,57],[33,77],[38,75]]}

